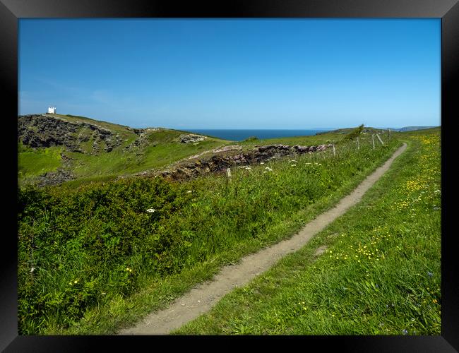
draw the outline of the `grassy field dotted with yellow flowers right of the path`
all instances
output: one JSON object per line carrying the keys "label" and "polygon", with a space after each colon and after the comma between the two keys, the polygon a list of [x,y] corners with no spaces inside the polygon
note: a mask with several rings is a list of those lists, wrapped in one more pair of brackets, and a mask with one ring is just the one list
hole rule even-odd
{"label": "grassy field dotted with yellow flowers right of the path", "polygon": [[409,144],[362,203],[181,335],[441,335],[439,128]]}

